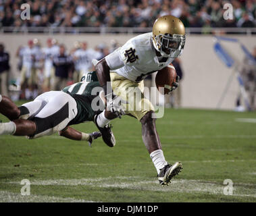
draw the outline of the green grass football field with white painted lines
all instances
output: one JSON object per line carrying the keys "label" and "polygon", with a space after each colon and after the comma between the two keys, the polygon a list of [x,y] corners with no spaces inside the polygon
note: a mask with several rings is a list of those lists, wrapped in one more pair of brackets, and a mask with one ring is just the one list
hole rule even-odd
{"label": "green grass football field with white painted lines", "polygon": [[[184,167],[165,187],[132,117],[112,122],[114,148],[101,138],[90,148],[57,134],[0,136],[0,202],[255,202],[255,119],[255,112],[165,109],[157,119],[165,159]],[[96,130],[93,123],[74,128]],[[23,179],[30,196],[20,195]],[[232,195],[224,195],[226,179]]]}

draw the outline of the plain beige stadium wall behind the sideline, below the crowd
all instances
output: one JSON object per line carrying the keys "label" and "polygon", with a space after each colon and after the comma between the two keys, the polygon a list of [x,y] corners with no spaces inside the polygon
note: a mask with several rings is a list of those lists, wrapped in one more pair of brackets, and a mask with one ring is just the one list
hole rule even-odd
{"label": "plain beige stadium wall behind the sideline, below the crowd", "polygon": [[[100,43],[110,44],[111,39],[115,38],[120,44],[125,43],[135,34],[0,34],[0,43],[5,44],[6,51],[11,56],[11,74],[18,77],[16,50],[20,45],[26,45],[32,38],[39,38],[42,46],[45,46],[47,38],[57,38],[59,43],[64,43],[68,49],[74,45],[74,41],[87,41],[88,47],[94,48]],[[250,51],[255,44],[255,36],[232,35],[238,38]],[[215,109],[222,92],[226,86],[232,70],[226,68],[224,63],[217,58],[213,51],[213,36],[188,35],[182,54],[182,68],[184,79],[181,82],[182,88],[182,107]],[[237,59],[242,60],[244,55],[236,45],[228,45],[228,48],[236,55]],[[222,103],[221,109],[234,109],[235,100],[239,92],[238,82],[234,77],[230,88]]]}

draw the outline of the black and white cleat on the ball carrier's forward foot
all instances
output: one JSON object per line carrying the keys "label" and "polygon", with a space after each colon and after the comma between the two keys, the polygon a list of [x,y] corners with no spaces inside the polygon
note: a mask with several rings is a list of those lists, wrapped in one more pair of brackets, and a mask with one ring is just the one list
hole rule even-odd
{"label": "black and white cleat on the ball carrier's forward foot", "polygon": [[182,163],[176,162],[174,165],[167,164],[162,169],[160,169],[160,173],[158,174],[159,183],[163,185],[168,185],[171,182],[172,178],[182,169]]}

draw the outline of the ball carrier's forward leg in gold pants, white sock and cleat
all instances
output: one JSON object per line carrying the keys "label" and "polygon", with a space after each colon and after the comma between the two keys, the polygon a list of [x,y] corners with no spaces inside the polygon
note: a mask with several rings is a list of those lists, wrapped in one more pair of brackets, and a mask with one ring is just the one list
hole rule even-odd
{"label": "ball carrier's forward leg in gold pants, white sock and cleat", "polygon": [[143,94],[143,82],[136,84],[116,75],[115,77],[111,80],[113,92],[123,100],[128,101],[126,113],[130,113],[141,122],[143,142],[157,169],[159,182],[160,184],[168,184],[174,175],[180,171],[182,164],[177,162],[174,165],[169,165],[165,160],[155,126],[155,118],[153,118],[154,107]]}

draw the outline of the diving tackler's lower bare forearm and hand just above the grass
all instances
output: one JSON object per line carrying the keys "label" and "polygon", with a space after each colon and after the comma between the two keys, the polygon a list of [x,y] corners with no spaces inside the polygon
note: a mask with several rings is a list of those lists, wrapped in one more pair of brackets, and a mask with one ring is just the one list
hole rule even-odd
{"label": "diving tackler's lower bare forearm and hand just above the grass", "polygon": [[86,134],[84,132],[80,132],[68,126],[59,132],[59,136],[64,136],[70,140],[81,140],[81,141],[85,140],[85,141],[88,141],[89,144],[91,144],[93,140],[101,136],[101,133],[93,132],[92,134]]}

